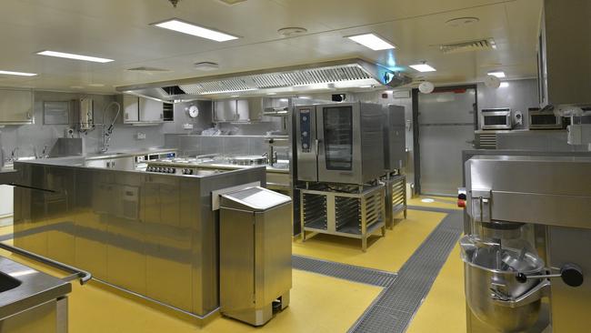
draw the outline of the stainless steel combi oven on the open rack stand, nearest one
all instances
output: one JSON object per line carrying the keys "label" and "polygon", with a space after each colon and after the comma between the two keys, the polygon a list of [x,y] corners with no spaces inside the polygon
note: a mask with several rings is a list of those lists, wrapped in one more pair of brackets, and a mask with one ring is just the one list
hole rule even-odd
{"label": "stainless steel combi oven on the open rack stand, nearest one", "polygon": [[295,106],[297,179],[362,185],[384,172],[382,106]]}

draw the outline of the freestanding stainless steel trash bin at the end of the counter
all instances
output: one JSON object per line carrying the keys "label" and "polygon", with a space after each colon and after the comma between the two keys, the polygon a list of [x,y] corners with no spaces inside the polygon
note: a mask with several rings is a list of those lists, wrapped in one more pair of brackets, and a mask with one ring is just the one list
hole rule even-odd
{"label": "freestanding stainless steel trash bin at the end of the counter", "polygon": [[262,187],[220,198],[220,309],[251,325],[289,305],[291,198]]}

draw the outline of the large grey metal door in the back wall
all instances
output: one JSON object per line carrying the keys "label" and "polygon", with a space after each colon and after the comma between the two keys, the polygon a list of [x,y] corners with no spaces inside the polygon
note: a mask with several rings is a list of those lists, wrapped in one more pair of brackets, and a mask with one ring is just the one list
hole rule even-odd
{"label": "large grey metal door in the back wall", "polygon": [[419,190],[456,197],[462,150],[474,148],[476,87],[442,90],[418,96]]}

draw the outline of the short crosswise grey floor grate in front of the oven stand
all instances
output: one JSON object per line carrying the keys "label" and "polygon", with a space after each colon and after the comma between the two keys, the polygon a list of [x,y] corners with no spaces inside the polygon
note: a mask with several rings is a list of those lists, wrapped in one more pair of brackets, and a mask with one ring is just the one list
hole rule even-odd
{"label": "short crosswise grey floor grate in front of the oven stand", "polygon": [[396,273],[366,267],[351,266],[313,257],[292,256],[292,267],[333,278],[365,283],[377,287],[389,287],[396,279]]}

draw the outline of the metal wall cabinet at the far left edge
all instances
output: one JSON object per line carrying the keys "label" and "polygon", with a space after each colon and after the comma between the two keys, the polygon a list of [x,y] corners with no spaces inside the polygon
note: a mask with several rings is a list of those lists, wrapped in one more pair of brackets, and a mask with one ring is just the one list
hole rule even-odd
{"label": "metal wall cabinet at the far left edge", "polygon": [[33,92],[0,89],[0,124],[33,124]]}

